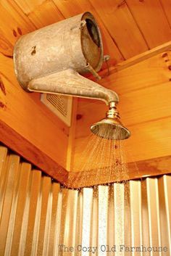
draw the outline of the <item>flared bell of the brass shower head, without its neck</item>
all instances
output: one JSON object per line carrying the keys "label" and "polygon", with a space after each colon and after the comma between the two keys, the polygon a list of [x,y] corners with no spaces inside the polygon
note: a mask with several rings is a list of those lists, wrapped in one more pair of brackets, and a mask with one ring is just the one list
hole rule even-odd
{"label": "flared bell of the brass shower head, without its neck", "polygon": [[91,125],[91,132],[104,139],[128,139],[130,131],[125,128],[120,119],[104,118],[98,123]]}

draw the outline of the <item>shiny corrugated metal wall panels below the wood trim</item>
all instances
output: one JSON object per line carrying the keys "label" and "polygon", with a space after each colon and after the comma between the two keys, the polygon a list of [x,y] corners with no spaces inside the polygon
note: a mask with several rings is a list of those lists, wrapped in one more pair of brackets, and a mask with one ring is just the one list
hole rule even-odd
{"label": "shiny corrugated metal wall panels below the wood trim", "polygon": [[171,255],[170,224],[171,176],[62,189],[0,146],[0,256]]}

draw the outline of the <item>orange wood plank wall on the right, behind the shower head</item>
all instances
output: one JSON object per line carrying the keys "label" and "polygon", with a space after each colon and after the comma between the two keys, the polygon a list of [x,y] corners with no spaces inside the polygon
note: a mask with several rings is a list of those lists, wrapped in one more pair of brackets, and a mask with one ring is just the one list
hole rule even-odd
{"label": "orange wood plank wall on the right, behind the shower head", "polygon": [[[125,141],[128,162],[170,155],[170,64],[171,54],[167,51],[101,80],[120,96],[121,120],[132,133]],[[106,111],[103,102],[79,99],[72,170],[79,165],[91,124],[104,118]]]}

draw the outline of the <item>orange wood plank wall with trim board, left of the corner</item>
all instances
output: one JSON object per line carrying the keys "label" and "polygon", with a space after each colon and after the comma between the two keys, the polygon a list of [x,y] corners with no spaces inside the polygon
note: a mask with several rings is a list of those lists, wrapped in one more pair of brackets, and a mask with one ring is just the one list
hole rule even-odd
{"label": "orange wood plank wall with trim board, left of the corner", "polygon": [[0,140],[38,168],[55,173],[59,165],[66,167],[69,128],[39,96],[22,90],[12,59],[0,54]]}

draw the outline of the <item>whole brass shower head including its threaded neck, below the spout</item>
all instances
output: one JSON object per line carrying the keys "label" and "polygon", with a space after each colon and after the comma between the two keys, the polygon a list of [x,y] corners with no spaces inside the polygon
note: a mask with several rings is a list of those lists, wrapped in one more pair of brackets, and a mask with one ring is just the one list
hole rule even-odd
{"label": "whole brass shower head including its threaded neck, below the spout", "polygon": [[91,132],[104,139],[128,139],[130,131],[120,122],[116,102],[110,102],[106,118],[91,125]]}

